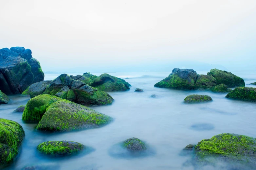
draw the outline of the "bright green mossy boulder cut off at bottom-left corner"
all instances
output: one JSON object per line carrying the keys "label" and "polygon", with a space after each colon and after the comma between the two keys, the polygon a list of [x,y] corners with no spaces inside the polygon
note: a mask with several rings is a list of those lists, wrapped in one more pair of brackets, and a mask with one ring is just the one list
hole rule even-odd
{"label": "bright green mossy boulder cut off at bottom-left corner", "polygon": [[0,168],[15,159],[24,135],[19,123],[0,118]]}

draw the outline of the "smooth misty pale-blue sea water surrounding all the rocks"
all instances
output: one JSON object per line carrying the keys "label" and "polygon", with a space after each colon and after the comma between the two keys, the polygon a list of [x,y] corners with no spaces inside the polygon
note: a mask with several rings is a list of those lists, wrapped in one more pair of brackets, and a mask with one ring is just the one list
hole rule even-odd
{"label": "smooth misty pale-blue sea water surrounding all the rocks", "polygon": [[[206,71],[197,73],[207,74]],[[256,81],[256,74],[248,74],[246,71],[232,73],[244,78],[247,87],[255,87],[247,84]],[[99,76],[101,73],[93,74]],[[132,87],[126,92],[109,92],[115,99],[112,105],[89,106],[114,118],[113,122],[101,128],[68,133],[37,131],[37,124],[24,123],[21,120],[22,113],[13,112],[18,106],[26,105],[29,97],[10,95],[10,102],[0,105],[0,117],[20,123],[26,136],[17,160],[5,169],[45,164],[52,169],[59,167],[62,170],[192,170],[197,167],[187,163],[191,157],[180,154],[188,144],[197,144],[202,139],[222,133],[256,137],[255,103],[227,99],[226,93],[155,88],[154,84],[170,72],[109,74],[119,78],[128,77],[125,80]],[[59,75],[46,74],[45,80]],[[144,92],[134,92],[135,88],[141,88]],[[157,97],[150,97],[152,94]],[[190,94],[210,95],[213,101],[186,105],[183,100]],[[143,140],[151,152],[142,156],[119,156],[119,142],[130,137]],[[39,154],[37,145],[50,140],[76,141],[91,150],[68,157]],[[201,168],[226,169],[222,165],[206,165]]]}

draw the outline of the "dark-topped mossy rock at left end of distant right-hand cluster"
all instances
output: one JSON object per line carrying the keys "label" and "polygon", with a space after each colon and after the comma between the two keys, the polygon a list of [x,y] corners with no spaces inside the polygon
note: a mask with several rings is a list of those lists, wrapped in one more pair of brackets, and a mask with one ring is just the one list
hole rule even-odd
{"label": "dark-topped mossy rock at left end of distant right-hand cluster", "polygon": [[180,90],[194,89],[197,73],[192,69],[174,68],[165,79],[155,84],[155,87],[172,88]]}

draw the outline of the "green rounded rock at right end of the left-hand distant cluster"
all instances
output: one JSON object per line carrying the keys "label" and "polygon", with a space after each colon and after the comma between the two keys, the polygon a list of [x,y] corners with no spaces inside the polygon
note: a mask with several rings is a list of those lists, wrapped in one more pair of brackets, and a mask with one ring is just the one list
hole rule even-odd
{"label": "green rounded rock at right end of the left-hand distant cluster", "polygon": [[90,86],[105,92],[127,91],[130,90],[129,85],[125,80],[106,73],[94,78],[90,84]]}

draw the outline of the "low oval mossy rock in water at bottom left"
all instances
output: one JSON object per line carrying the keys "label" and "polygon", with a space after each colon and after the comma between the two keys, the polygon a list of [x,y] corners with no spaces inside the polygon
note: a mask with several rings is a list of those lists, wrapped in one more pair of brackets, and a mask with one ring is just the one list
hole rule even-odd
{"label": "low oval mossy rock in water at bottom left", "polygon": [[65,156],[82,151],[86,147],[73,141],[48,141],[37,146],[40,153],[46,155]]}

